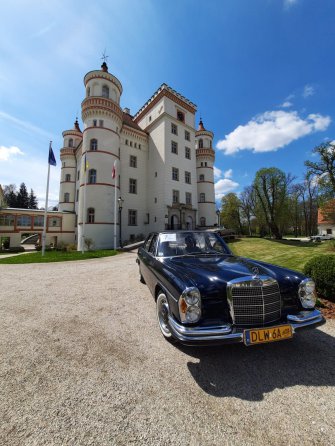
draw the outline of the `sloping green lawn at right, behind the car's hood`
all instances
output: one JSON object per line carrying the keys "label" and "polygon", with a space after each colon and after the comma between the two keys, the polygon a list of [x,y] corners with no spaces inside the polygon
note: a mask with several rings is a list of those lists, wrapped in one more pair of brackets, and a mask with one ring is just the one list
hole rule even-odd
{"label": "sloping green lawn at right, behind the car's hood", "polygon": [[328,241],[321,243],[242,238],[229,243],[234,254],[302,271],[305,263],[320,254],[334,254]]}

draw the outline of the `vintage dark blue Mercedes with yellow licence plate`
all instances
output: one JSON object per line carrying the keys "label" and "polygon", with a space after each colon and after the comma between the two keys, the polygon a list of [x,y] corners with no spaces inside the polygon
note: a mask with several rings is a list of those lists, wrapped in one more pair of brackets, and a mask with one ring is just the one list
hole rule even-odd
{"label": "vintage dark blue Mercedes with yellow licence plate", "polygon": [[253,345],[289,339],[325,322],[315,309],[311,279],[237,257],[215,232],[151,233],[137,263],[170,341]]}

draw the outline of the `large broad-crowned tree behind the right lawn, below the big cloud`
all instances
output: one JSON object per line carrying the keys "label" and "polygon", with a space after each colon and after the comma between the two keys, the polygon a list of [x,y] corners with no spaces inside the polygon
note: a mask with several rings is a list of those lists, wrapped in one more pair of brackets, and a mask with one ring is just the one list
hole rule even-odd
{"label": "large broad-crowned tree behind the right lawn, below the big cloud", "polygon": [[256,212],[261,213],[272,235],[282,238],[288,208],[289,186],[293,178],[276,167],[256,172],[253,188],[256,194]]}

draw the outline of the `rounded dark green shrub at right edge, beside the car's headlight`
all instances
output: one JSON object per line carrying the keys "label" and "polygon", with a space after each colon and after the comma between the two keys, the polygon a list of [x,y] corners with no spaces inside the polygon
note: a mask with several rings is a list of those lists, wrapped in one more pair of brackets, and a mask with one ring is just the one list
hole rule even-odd
{"label": "rounded dark green shrub at right edge, beside the car's headlight", "polygon": [[314,280],[322,296],[335,302],[335,255],[321,255],[309,260],[304,266],[304,274]]}

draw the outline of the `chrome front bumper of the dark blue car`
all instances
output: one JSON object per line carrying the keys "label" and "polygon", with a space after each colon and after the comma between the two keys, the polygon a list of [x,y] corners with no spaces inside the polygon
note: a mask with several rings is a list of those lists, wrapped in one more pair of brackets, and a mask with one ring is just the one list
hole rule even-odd
{"label": "chrome front bumper of the dark blue car", "polygon": [[[301,328],[313,328],[324,324],[325,318],[319,310],[301,311],[295,315],[288,315],[287,321],[276,325],[290,324],[292,332]],[[177,322],[172,316],[169,316],[170,329],[173,336],[183,344],[233,344],[243,342],[243,330],[237,331],[231,324],[216,325],[210,327],[185,327]],[[248,329],[250,329],[249,327]],[[266,327],[265,327],[266,328]]]}

